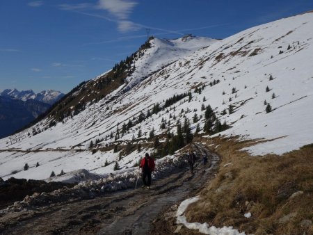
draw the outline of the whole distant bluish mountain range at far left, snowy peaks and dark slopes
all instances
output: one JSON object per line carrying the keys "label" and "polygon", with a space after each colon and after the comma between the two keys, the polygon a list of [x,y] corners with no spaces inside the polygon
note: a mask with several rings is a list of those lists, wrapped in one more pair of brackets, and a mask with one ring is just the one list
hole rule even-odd
{"label": "whole distant bluish mountain range at far left, snowy peaks and dark slopes", "polygon": [[22,129],[64,96],[62,92],[6,89],[0,93],[0,138]]}

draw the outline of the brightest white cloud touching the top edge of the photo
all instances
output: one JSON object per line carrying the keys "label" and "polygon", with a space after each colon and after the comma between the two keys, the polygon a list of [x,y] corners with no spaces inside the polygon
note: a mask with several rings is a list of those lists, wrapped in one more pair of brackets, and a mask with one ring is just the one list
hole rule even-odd
{"label": "brightest white cloud touching the top edge of the photo", "polygon": [[134,6],[136,6],[134,1],[125,0],[99,0],[99,8],[108,10],[109,13],[118,17],[118,19],[128,19],[129,14],[132,13]]}

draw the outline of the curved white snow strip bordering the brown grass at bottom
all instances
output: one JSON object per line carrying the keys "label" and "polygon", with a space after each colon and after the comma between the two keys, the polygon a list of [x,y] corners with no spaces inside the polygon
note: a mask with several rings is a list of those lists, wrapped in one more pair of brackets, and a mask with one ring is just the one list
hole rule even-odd
{"label": "curved white snow strip bordering the brown grass at bottom", "polygon": [[239,232],[237,229],[233,229],[233,227],[222,227],[218,228],[215,226],[209,227],[207,222],[201,224],[200,222],[187,222],[186,216],[184,216],[184,212],[187,207],[193,202],[197,202],[200,199],[199,196],[188,198],[179,205],[177,209],[177,224],[183,224],[188,229],[199,230],[202,234],[210,234],[210,235],[246,235],[244,232]]}

